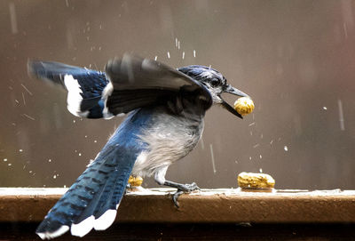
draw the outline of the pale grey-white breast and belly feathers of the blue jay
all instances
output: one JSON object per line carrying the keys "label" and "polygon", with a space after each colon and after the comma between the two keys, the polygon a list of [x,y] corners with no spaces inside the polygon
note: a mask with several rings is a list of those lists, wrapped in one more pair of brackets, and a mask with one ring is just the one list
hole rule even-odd
{"label": "pale grey-white breast and belly feathers of the blue jay", "polygon": [[185,157],[196,146],[203,131],[202,117],[192,120],[159,113],[154,116],[154,124],[140,136],[148,144],[148,150],[138,156],[132,171],[134,175],[151,176]]}

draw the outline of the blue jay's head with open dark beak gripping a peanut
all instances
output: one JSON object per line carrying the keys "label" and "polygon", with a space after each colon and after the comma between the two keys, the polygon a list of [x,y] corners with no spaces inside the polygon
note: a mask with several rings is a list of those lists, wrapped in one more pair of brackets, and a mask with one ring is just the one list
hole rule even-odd
{"label": "blue jay's head with open dark beak gripping a peanut", "polygon": [[223,100],[221,95],[224,92],[228,92],[241,97],[249,97],[248,94],[234,88],[231,84],[227,84],[225,76],[219,73],[216,69],[201,65],[192,65],[177,68],[177,70],[190,76],[194,80],[199,81],[210,92],[213,104],[221,105],[233,115],[242,118],[241,114]]}

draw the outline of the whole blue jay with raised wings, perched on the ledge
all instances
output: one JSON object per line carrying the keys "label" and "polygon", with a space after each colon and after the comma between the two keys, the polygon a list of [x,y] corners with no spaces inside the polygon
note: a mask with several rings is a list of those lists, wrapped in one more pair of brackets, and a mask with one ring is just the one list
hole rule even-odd
{"label": "whole blue jay with raised wings, perched on the ledge", "polygon": [[226,83],[216,69],[193,65],[170,68],[158,61],[125,54],[108,61],[105,72],[51,61],[28,62],[32,76],[67,89],[67,109],[75,116],[111,118],[127,114],[83,174],[36,229],[43,239],[70,229],[83,237],[113,222],[130,175],[154,176],[176,188],[177,197],[199,189],[195,183],[165,179],[168,167],[201,139],[205,112],[221,105],[242,116],[221,98],[223,92],[248,97]]}

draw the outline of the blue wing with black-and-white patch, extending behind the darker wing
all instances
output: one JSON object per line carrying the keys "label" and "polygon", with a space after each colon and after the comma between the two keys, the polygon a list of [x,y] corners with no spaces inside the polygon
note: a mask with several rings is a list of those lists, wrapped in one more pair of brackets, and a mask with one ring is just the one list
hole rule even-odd
{"label": "blue wing with black-and-white patch, extending behind the darker wing", "polygon": [[49,83],[67,89],[67,109],[75,116],[88,118],[104,116],[103,91],[108,84],[105,73],[51,61],[29,61],[28,72]]}

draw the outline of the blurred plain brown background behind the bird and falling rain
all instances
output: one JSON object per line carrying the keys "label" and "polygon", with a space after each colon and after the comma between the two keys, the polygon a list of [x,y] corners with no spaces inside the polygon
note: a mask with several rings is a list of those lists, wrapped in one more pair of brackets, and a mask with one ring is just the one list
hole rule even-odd
{"label": "blurred plain brown background behind the bird and falling rain", "polygon": [[65,92],[28,76],[28,59],[103,69],[134,52],[211,65],[256,104],[244,120],[211,108],[167,179],[236,188],[238,173],[261,172],[277,189],[355,189],[354,10],[350,0],[3,0],[0,186],[70,186],[122,122],[72,116]]}

